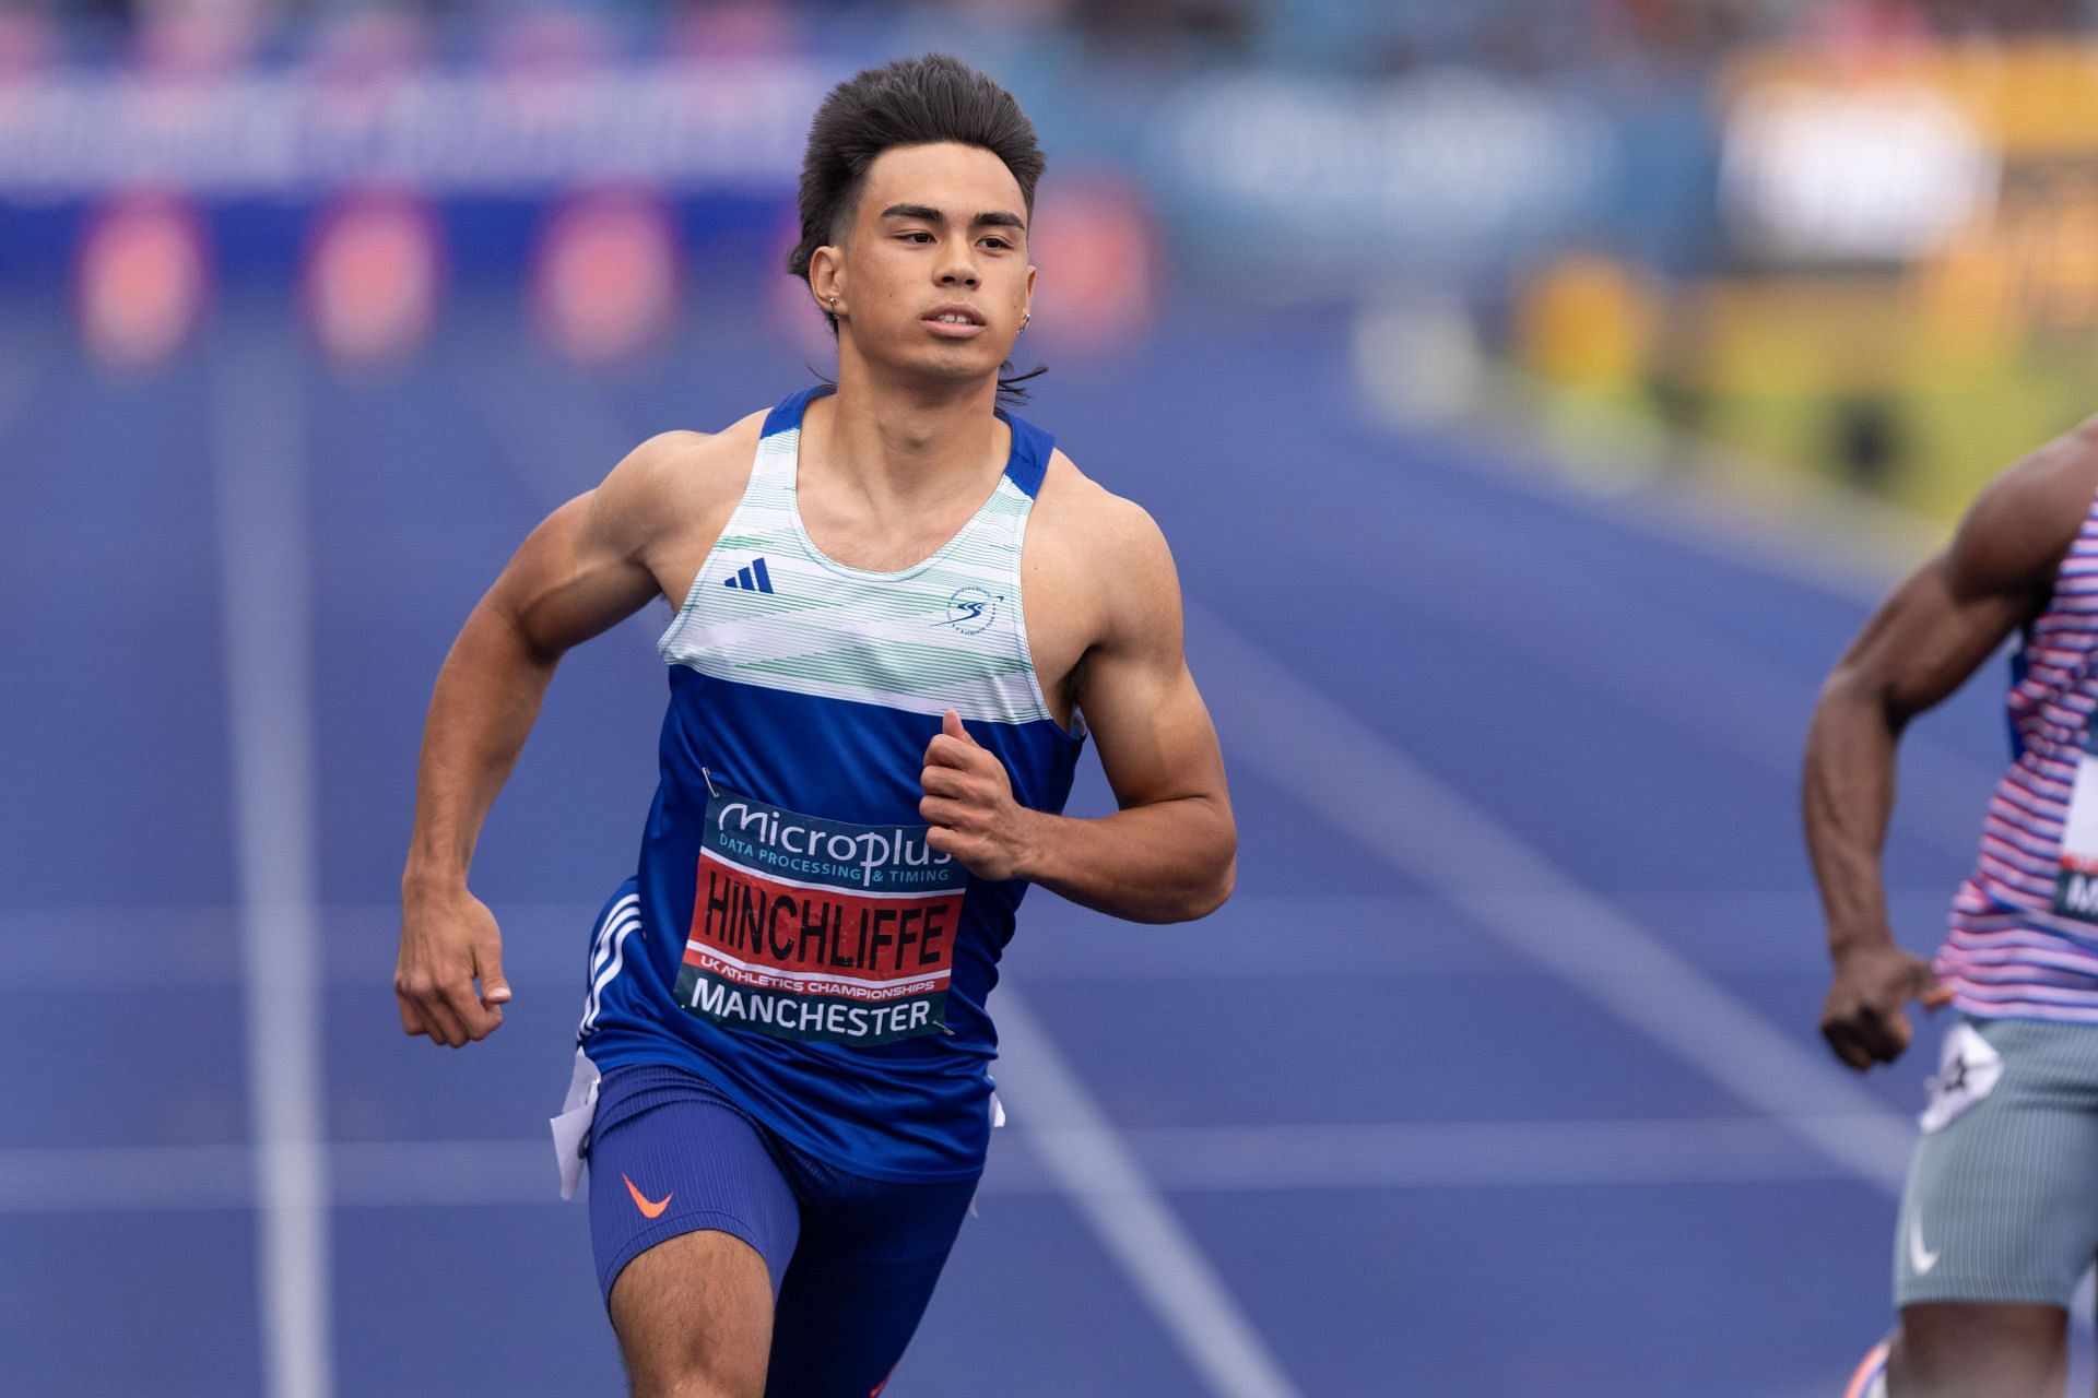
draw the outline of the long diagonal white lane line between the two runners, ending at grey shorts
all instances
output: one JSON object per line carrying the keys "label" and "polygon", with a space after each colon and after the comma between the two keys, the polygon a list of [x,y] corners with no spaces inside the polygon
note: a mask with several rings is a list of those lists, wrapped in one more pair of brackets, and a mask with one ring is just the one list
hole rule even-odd
{"label": "long diagonal white lane line between the two runners, ending at grey shorts", "polygon": [[[1829,1159],[1901,1191],[1913,1126],[1806,1046],[1804,1031],[1767,1021],[1217,616],[1190,608],[1187,633],[1236,767],[1259,771],[1743,1102],[1785,1117]],[[1838,1119],[1880,1126],[1832,1130]]]}

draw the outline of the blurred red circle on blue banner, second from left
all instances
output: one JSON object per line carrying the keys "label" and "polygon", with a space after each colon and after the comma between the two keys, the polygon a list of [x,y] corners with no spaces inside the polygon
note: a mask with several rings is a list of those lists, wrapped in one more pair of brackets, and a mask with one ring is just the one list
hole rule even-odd
{"label": "blurred red circle on blue banner, second from left", "polygon": [[411,195],[359,191],[323,210],[306,243],[300,300],[340,365],[407,358],[436,321],[443,252],[436,218]]}

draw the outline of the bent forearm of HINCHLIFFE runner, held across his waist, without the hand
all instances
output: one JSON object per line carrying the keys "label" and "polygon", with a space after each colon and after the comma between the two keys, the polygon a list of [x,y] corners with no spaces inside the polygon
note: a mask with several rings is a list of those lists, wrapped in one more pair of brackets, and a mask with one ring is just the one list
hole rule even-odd
{"label": "bent forearm of HINCHLIFFE runner, held across his waist, without the hand", "polygon": [[1238,830],[1211,796],[1137,805],[1101,820],[1032,811],[1022,878],[1131,922],[1187,922],[1232,897]]}

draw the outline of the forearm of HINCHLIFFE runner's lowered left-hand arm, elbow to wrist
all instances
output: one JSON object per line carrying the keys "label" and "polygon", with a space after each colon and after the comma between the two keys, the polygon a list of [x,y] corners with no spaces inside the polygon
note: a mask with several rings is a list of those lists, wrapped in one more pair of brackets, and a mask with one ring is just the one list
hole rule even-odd
{"label": "forearm of HINCHLIFFE runner's lowered left-hand arm, elbow to wrist", "polygon": [[533,650],[516,618],[483,599],[430,694],[403,889],[464,887],[480,824],[510,780],[560,656]]}

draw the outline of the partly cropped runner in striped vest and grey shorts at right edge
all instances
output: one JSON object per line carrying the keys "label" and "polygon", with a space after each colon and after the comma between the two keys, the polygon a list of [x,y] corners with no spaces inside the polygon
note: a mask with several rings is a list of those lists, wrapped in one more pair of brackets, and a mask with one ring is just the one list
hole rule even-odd
{"label": "partly cropped runner in striped vest and grey shorts at right edge", "polygon": [[[1901,1323],[1853,1394],[2054,1398],[2069,1297],[2098,1253],[2098,419],[1974,501],[1829,675],[1806,740],[1827,910],[1821,1012],[1850,1067],[1953,1004],[1894,1239]],[[1886,922],[1894,744],[2012,633],[2012,763],[1936,966]],[[1876,1373],[1884,1367],[1884,1373]]]}

